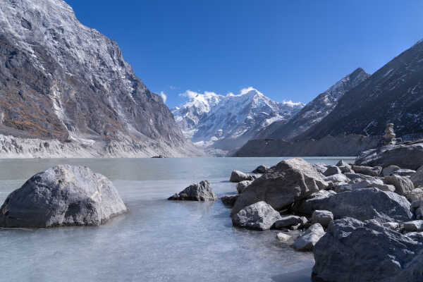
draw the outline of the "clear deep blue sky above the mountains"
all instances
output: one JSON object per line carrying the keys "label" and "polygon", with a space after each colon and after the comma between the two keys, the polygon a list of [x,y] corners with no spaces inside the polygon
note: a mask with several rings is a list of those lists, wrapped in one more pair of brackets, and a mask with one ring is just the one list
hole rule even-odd
{"label": "clear deep blue sky above the mountains", "polygon": [[[357,67],[373,73],[423,39],[423,1],[66,0],[116,40],[153,92],[309,102]],[[347,3],[348,2],[348,3]]]}

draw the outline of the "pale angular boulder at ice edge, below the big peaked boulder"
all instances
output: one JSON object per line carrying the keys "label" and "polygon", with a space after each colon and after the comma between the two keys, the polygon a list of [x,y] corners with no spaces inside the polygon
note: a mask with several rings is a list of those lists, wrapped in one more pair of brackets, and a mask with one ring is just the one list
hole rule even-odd
{"label": "pale angular boulder at ice edge, below the big peaked boulder", "polygon": [[281,214],[263,201],[251,204],[231,217],[234,226],[253,230],[270,229],[276,221],[282,219]]}

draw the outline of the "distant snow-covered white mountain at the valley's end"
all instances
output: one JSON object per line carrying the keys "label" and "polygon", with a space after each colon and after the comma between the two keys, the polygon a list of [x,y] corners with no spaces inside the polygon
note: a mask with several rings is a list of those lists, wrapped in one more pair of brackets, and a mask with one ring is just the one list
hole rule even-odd
{"label": "distant snow-covered white mountain at the valley's end", "polygon": [[302,103],[274,102],[250,87],[237,95],[212,92],[192,95],[173,114],[185,136],[195,145],[209,151],[228,152],[241,147],[274,121],[288,121],[302,106]]}

